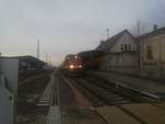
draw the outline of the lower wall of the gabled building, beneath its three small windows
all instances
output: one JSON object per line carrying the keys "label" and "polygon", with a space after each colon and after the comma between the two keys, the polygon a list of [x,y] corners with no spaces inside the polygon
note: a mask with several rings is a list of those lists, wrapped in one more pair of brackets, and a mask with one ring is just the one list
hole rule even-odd
{"label": "lower wall of the gabled building, beneath its three small windows", "polygon": [[105,56],[101,70],[132,74],[138,70],[135,53],[113,53]]}

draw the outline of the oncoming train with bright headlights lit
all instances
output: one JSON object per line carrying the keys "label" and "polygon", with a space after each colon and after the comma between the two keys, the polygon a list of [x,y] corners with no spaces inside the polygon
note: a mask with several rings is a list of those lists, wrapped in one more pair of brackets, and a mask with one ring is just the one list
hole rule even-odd
{"label": "oncoming train with bright headlights lit", "polygon": [[98,50],[81,52],[67,55],[62,70],[67,75],[84,76],[86,70],[98,70],[103,61],[103,53]]}

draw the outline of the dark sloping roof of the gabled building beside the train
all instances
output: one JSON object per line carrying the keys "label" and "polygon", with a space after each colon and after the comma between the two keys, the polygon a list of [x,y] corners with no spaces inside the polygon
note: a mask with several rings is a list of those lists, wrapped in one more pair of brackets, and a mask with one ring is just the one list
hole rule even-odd
{"label": "dark sloping roof of the gabled building beside the train", "polygon": [[128,30],[124,30],[122,32],[120,32],[119,34],[106,40],[106,41],[102,41],[100,43],[100,45],[96,48],[97,50],[102,50],[102,52],[108,52],[109,49],[112,48],[112,46],[119,41],[119,38],[124,34],[124,33],[128,33],[132,38],[134,38],[132,36],[132,34],[128,31]]}

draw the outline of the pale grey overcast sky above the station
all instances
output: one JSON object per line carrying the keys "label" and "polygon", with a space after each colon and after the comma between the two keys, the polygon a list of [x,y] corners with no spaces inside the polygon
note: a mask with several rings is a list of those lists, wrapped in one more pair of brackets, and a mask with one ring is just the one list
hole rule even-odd
{"label": "pale grey overcast sky above the station", "polygon": [[165,26],[165,0],[0,0],[0,53],[36,56],[46,53],[53,65],[67,54],[95,49],[110,36],[128,29],[142,33],[154,24]]}

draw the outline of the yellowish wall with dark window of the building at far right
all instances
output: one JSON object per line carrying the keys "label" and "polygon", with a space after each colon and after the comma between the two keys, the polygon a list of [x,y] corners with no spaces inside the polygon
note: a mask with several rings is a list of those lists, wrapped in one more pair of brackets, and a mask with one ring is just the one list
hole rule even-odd
{"label": "yellowish wall with dark window of the building at far right", "polygon": [[162,78],[165,76],[165,34],[141,41],[141,74]]}

